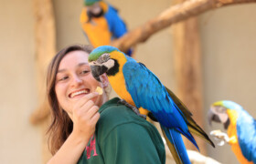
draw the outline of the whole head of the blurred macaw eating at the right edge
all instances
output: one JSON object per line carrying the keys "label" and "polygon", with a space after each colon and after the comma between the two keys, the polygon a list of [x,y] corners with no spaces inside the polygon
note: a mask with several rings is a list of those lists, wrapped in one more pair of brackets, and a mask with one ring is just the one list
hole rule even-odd
{"label": "whole head of the blurred macaw eating at the right edge", "polygon": [[208,123],[211,125],[211,122],[219,122],[224,125],[224,128],[229,128],[230,118],[237,116],[241,107],[239,104],[229,101],[222,100],[213,103],[208,110]]}

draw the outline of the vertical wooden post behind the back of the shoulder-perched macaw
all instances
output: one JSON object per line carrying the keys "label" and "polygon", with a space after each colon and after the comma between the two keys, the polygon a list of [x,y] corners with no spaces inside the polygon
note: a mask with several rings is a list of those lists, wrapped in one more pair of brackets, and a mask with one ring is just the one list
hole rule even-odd
{"label": "vertical wooden post behind the back of the shoulder-perched macaw", "polygon": [[[197,124],[204,128],[203,96],[201,74],[201,44],[197,25],[197,16],[173,26],[174,36],[174,66],[176,72],[176,95],[193,113]],[[207,154],[206,142],[197,138],[200,153]],[[187,149],[196,149],[184,139]]]}

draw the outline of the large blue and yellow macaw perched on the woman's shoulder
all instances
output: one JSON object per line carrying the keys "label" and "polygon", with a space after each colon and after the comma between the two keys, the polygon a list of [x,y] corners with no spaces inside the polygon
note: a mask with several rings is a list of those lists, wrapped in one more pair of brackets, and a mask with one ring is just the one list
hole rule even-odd
{"label": "large blue and yellow macaw perched on the woman's shoulder", "polygon": [[106,73],[112,88],[121,98],[140,111],[143,108],[149,111],[148,116],[160,123],[176,163],[190,163],[181,134],[196,147],[197,142],[191,133],[204,138],[214,147],[184,104],[142,63],[113,46],[95,48],[89,56],[89,62],[93,77],[100,81],[99,76]]}

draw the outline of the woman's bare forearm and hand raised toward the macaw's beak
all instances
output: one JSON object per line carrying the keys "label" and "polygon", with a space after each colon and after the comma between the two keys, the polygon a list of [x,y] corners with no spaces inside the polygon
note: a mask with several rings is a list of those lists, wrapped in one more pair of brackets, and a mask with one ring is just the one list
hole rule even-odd
{"label": "woman's bare forearm and hand raised toward the macaw's beak", "polygon": [[78,162],[100,118],[99,107],[95,106],[91,100],[98,95],[97,92],[93,92],[77,101],[77,104],[72,108],[72,113],[69,113],[69,117],[73,121],[73,131],[59,151],[48,161],[48,164]]}

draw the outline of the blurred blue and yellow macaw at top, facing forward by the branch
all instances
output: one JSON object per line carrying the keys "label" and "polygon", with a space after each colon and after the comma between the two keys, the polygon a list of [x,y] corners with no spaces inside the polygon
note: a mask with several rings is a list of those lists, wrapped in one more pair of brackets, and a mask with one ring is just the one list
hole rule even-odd
{"label": "blurred blue and yellow macaw at top, facing forward by the branch", "polygon": [[[93,15],[88,11],[88,7],[95,4],[101,8],[98,15]],[[92,46],[110,45],[113,39],[127,33],[123,19],[112,5],[101,0],[84,0],[84,5],[80,14],[80,25]],[[128,50],[127,55],[132,56],[131,49]]]}

